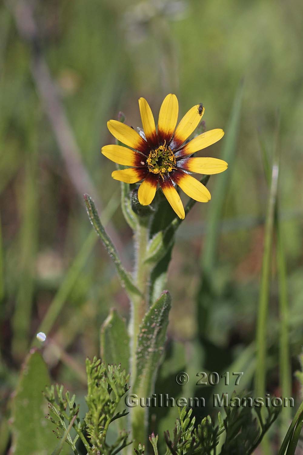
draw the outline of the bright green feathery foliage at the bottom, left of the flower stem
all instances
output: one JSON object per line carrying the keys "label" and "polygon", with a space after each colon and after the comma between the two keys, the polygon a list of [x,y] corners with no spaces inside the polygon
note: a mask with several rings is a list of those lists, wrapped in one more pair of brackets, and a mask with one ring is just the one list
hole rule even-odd
{"label": "bright green feathery foliage at the bottom, left of the flower stem", "polygon": [[75,404],[75,395],[71,398],[69,392],[63,395],[63,385],[45,389],[44,395],[50,409],[47,419],[56,425],[53,431],[58,438],[63,437],[72,422],[77,435],[73,440],[68,434],[66,442],[75,454],[78,454],[76,442],[80,438],[89,455],[116,455],[132,442],[129,441],[129,433],[123,430],[114,444],[106,443],[109,425],[128,414],[126,410],[116,410],[120,399],[129,389],[129,375],[121,370],[120,365],[106,366],[96,357],[92,361],[86,360],[86,373],[88,393],[85,399],[88,411],[84,420],[80,422],[78,418],[79,406]]}

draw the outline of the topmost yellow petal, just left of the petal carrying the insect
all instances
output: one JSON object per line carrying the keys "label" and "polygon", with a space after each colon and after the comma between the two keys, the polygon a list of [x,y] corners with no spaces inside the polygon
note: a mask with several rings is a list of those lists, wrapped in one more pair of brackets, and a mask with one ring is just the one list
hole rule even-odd
{"label": "topmost yellow petal, just left of the petal carrying the insect", "polygon": [[159,141],[169,142],[177,124],[179,105],[177,96],[169,93],[165,96],[159,112],[158,137]]}

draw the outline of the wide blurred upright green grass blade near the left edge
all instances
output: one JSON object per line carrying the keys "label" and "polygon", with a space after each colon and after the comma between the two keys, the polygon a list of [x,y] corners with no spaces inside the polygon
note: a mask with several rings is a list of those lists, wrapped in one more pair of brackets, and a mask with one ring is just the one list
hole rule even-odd
{"label": "wide blurred upright green grass blade near the left edge", "polygon": [[24,359],[30,336],[30,319],[34,298],[35,257],[37,250],[37,160],[35,134],[30,137],[25,162],[24,188],[20,192],[22,224],[20,227],[20,282],[13,316],[12,353]]}

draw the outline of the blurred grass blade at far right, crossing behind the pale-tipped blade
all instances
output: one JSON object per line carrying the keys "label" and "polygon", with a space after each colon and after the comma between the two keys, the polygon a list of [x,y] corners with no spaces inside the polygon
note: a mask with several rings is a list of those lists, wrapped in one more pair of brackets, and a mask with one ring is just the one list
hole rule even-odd
{"label": "blurred grass blade at far right, crossing behind the pale-tipped blade", "polygon": [[[269,154],[265,147],[264,142],[259,137],[260,149],[263,157],[263,166],[265,177],[270,184],[270,166]],[[278,128],[276,134],[275,148],[278,147]],[[278,272],[278,292],[279,292],[279,369],[280,369],[280,387],[281,395],[289,397],[291,394],[291,367],[290,367],[290,349],[289,349],[289,320],[288,320],[288,291],[287,291],[287,271],[286,259],[283,245],[283,233],[281,228],[279,210],[279,200],[276,197],[275,211],[274,211],[274,229],[277,237],[277,272]],[[291,420],[291,408],[286,407],[281,413],[280,437],[283,439],[289,422]]]}

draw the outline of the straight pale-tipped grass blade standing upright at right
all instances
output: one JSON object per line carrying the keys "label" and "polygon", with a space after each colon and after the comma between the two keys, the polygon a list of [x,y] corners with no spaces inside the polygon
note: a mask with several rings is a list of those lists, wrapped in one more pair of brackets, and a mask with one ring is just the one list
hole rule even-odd
{"label": "straight pale-tipped grass blade standing upright at right", "polygon": [[[277,127],[278,131],[279,126]],[[277,132],[278,134],[278,132]],[[258,303],[258,316],[256,328],[256,349],[257,365],[255,374],[255,394],[256,397],[265,396],[266,382],[266,328],[268,318],[268,302],[270,288],[270,273],[272,264],[272,244],[273,244],[273,223],[278,189],[279,154],[278,147],[274,147],[273,166],[270,179],[270,190],[268,196],[268,207],[265,220],[264,248],[262,260],[262,273],[260,283],[260,294]],[[264,454],[269,453],[268,440],[266,437],[262,441]]]}

